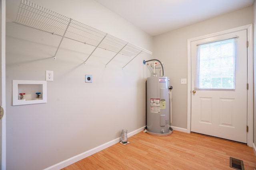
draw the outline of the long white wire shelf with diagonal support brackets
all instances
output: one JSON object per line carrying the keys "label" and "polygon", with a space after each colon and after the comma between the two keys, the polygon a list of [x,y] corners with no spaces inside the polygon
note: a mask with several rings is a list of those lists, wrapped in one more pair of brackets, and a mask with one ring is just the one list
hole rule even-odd
{"label": "long white wire shelf with diagonal support brackets", "polygon": [[[71,18],[58,14],[57,12],[28,0],[21,0],[14,22],[62,37],[56,53],[53,56],[54,60],[56,60],[56,54],[63,38],[94,46],[95,49],[92,53],[94,53],[97,48],[112,51],[116,53],[112,59],[114,59],[116,55],[122,54],[130,57],[134,56],[130,60],[132,61],[141,53],[152,54],[151,51],[104,33],[103,31],[90,27],[84,23],[72,20]],[[92,53],[84,61],[84,64],[86,64],[86,61],[91,57]],[[112,61],[112,59],[110,61]],[[110,61],[108,63],[110,63]],[[128,63],[130,63],[130,61]]]}

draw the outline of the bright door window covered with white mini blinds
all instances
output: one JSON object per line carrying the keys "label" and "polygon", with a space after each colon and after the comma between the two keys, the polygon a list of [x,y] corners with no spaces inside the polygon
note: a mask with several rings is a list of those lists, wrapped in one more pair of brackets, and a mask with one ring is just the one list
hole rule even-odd
{"label": "bright door window covered with white mini blinds", "polygon": [[235,89],[236,38],[197,45],[195,88]]}

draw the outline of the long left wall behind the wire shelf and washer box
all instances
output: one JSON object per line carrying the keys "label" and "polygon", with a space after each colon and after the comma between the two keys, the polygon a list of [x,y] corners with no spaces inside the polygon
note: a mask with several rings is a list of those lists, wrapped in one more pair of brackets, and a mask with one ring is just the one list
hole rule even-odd
{"label": "long left wall behind the wire shelf and washer box", "polygon": [[[33,0],[46,8],[152,51],[153,38],[94,0]],[[20,0],[6,2],[14,21]],[[60,38],[7,23],[6,121],[7,169],[39,170],[112,141],[146,125],[146,78],[142,54],[131,58],[65,40],[53,61]],[[12,106],[12,80],[45,80],[47,103]],[[93,76],[85,83],[85,74]]]}

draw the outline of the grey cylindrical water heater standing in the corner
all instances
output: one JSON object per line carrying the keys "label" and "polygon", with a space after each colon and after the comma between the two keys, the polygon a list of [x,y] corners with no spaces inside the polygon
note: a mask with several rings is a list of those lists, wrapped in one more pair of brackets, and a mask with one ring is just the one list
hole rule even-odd
{"label": "grey cylindrical water heater standing in the corner", "polygon": [[172,134],[170,127],[171,90],[169,77],[147,78],[147,126],[144,132],[156,136]]}

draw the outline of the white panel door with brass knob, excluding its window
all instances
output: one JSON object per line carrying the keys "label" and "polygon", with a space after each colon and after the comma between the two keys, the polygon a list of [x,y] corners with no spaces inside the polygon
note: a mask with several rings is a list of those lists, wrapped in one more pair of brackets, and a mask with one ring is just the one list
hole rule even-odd
{"label": "white panel door with brass knob, excluding its window", "polygon": [[[195,85],[197,45],[236,37],[233,90]],[[247,143],[247,30],[191,42],[191,131]]]}

